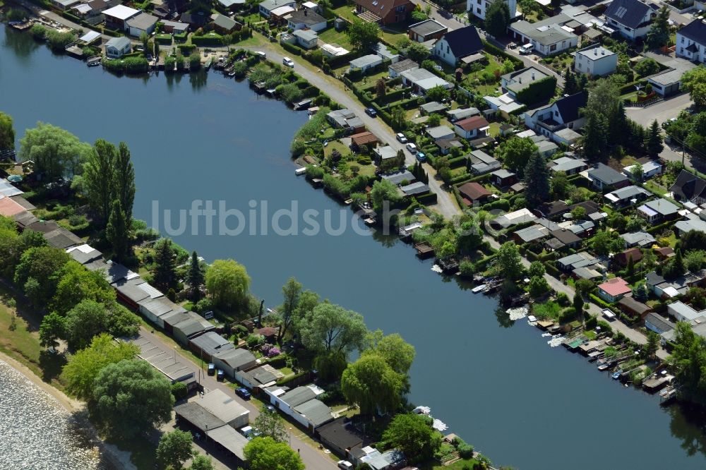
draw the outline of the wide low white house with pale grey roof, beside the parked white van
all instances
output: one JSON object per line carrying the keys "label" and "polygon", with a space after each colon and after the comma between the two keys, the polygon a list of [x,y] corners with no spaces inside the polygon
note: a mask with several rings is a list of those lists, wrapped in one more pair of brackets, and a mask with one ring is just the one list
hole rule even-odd
{"label": "wide low white house with pale grey roof, beside the parked white van", "polygon": [[515,21],[508,26],[510,36],[520,44],[532,44],[534,52],[541,55],[558,54],[578,45],[578,36],[566,26],[573,18],[559,13],[544,20],[529,23]]}

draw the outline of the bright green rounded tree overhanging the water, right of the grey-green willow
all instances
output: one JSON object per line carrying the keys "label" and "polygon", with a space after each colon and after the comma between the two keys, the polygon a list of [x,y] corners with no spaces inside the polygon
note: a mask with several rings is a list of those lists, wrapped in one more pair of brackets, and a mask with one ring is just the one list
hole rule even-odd
{"label": "bright green rounded tree overhanging the water, right of the grey-green willow", "polygon": [[378,354],[364,354],[341,376],[341,392],[361,414],[395,411],[402,402],[405,380]]}

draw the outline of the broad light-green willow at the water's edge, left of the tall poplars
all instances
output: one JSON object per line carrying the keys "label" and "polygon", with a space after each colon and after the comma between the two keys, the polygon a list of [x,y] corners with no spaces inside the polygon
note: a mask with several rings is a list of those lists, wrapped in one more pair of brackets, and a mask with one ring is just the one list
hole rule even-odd
{"label": "broad light-green willow at the water's edge, left of the tall poplars", "polygon": [[18,157],[23,162],[32,160],[35,172],[42,174],[45,181],[54,181],[80,174],[91,152],[90,145],[78,140],[76,135],[38,122],[37,127],[28,129],[20,139]]}

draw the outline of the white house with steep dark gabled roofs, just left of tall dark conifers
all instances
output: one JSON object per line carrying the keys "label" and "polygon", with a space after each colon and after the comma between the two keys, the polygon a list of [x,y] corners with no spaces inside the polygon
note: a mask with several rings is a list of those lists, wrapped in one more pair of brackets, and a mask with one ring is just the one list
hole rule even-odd
{"label": "white house with steep dark gabled roofs, just left of tall dark conifers", "polygon": [[586,106],[588,95],[586,92],[578,92],[556,100],[552,104],[547,104],[541,108],[532,109],[522,114],[525,119],[525,126],[550,138],[559,141],[555,133],[562,129],[580,129],[585,123],[585,117],[581,116],[579,110]]}

